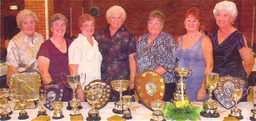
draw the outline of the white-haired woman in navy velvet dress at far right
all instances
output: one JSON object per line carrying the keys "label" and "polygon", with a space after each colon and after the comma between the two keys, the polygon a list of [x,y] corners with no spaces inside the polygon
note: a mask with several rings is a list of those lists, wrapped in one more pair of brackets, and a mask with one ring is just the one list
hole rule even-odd
{"label": "white-haired woman in navy velvet dress at far right", "polygon": [[213,44],[213,72],[220,76],[229,74],[241,77],[246,80],[247,85],[247,77],[252,71],[254,60],[252,46],[247,37],[232,26],[238,15],[236,4],[230,1],[219,2],[215,5],[213,14],[219,27],[217,33],[210,36]]}

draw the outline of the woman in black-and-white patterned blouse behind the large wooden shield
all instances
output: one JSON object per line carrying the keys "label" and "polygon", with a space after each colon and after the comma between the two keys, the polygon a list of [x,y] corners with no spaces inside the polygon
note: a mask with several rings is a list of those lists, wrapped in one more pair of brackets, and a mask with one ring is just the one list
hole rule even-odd
{"label": "woman in black-and-white patterned blouse behind the large wooden shield", "polygon": [[165,16],[162,12],[157,10],[150,12],[147,21],[149,33],[140,36],[134,57],[137,62],[137,73],[152,70],[164,77],[163,100],[170,101],[176,82],[171,69],[176,65],[177,45],[170,34],[162,31],[164,20]]}

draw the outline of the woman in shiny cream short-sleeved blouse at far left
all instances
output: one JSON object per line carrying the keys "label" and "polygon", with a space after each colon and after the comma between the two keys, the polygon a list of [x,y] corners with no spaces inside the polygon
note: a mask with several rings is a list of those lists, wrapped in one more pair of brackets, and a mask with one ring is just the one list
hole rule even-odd
{"label": "woman in shiny cream short-sleeved blouse at far left", "polygon": [[20,11],[16,16],[16,22],[20,32],[11,39],[7,48],[7,85],[10,85],[13,74],[38,72],[36,56],[44,42],[43,36],[35,32],[38,18],[34,12],[27,9]]}

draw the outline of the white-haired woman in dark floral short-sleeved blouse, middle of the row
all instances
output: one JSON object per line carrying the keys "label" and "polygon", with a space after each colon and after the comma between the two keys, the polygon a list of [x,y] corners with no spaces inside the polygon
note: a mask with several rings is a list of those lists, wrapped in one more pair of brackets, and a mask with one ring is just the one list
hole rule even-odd
{"label": "white-haired woman in dark floral short-sleeved blouse, middle of the row", "polygon": [[[136,43],[133,34],[123,26],[126,13],[122,7],[114,5],[106,12],[106,19],[110,26],[99,30],[95,36],[102,55],[101,79],[105,81],[112,77],[112,80],[129,80],[130,77],[130,91],[123,92],[123,95],[134,94],[134,78],[137,69],[134,60]],[[118,100],[119,92],[113,91],[110,101]]]}

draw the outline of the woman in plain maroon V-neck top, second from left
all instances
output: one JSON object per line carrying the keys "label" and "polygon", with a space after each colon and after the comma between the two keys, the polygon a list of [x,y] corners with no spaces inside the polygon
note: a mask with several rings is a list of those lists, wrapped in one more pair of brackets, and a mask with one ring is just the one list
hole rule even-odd
{"label": "woman in plain maroon V-neck top, second from left", "polygon": [[[38,68],[44,85],[56,83],[63,85],[61,81],[61,73],[69,75],[68,68],[68,47],[71,40],[64,39],[66,26],[68,25],[67,18],[62,14],[54,14],[50,20],[50,28],[52,37],[42,43],[38,54]],[[64,80],[67,85],[67,80]],[[63,86],[64,95],[62,101],[70,101],[72,90]]]}

